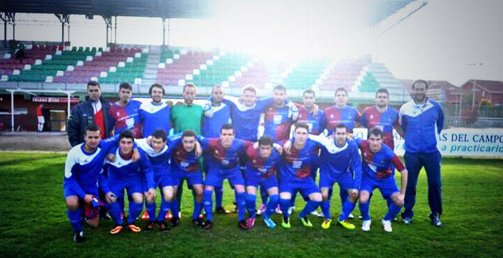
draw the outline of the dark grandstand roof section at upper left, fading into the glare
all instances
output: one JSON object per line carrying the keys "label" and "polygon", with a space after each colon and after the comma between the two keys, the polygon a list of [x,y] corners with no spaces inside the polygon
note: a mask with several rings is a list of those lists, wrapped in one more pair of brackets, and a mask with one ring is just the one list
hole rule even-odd
{"label": "dark grandstand roof section at upper left, fading into the glare", "polygon": [[1,12],[207,18],[209,0],[2,0]]}

